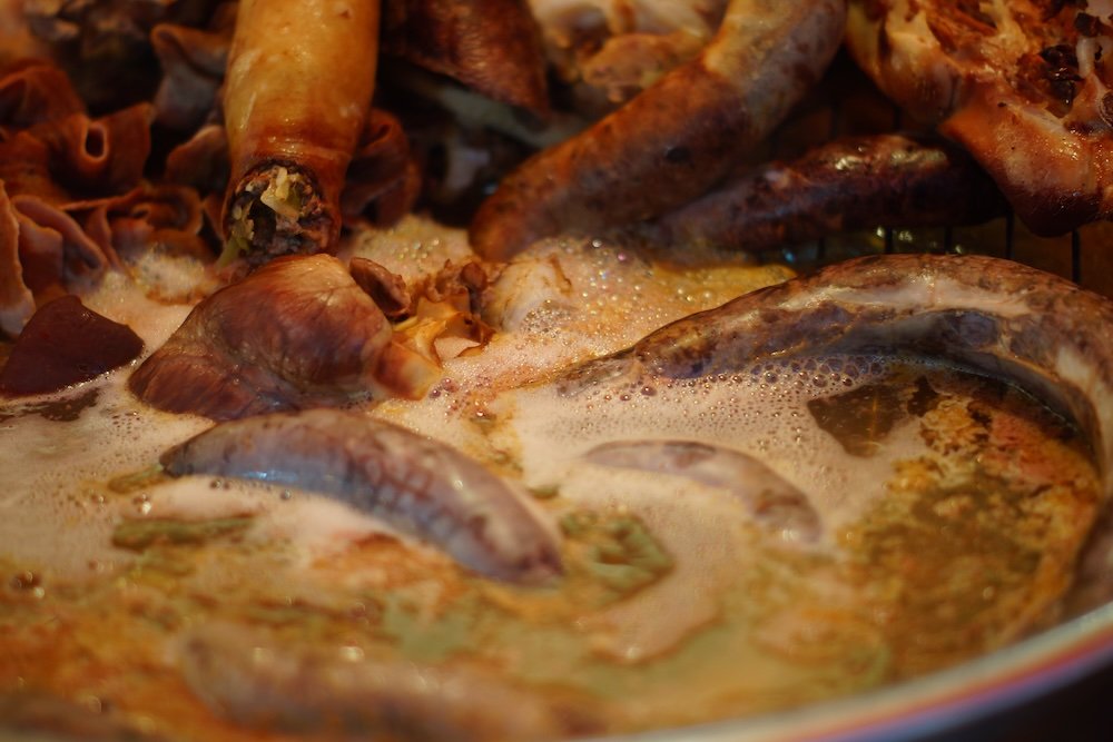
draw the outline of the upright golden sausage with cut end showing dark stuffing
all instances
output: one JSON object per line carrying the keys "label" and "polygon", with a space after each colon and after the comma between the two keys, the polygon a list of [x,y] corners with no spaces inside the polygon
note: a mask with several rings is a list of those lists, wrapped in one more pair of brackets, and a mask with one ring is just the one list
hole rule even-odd
{"label": "upright golden sausage with cut end showing dark stuffing", "polygon": [[243,0],[225,76],[226,255],[331,249],[375,89],[377,0]]}

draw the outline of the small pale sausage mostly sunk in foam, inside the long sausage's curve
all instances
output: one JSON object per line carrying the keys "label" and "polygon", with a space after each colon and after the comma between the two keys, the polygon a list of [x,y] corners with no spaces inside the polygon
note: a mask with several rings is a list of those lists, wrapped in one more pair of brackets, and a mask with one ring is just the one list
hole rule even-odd
{"label": "small pale sausage mostly sunk in foam, inside the long sausage's curve", "polygon": [[686,476],[733,494],[758,523],[790,541],[815,541],[819,514],[808,496],[740,451],[695,441],[618,441],[589,451],[592,464]]}

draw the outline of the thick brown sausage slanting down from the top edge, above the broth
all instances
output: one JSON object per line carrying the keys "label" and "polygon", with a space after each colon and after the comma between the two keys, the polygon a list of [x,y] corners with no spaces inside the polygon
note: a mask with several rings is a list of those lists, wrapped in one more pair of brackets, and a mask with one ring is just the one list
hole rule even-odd
{"label": "thick brown sausage slanting down from the top edge, above the broth", "polygon": [[703,194],[788,115],[843,38],[844,0],[732,0],[703,52],[511,172],[471,225],[506,259],[542,237],[659,216]]}

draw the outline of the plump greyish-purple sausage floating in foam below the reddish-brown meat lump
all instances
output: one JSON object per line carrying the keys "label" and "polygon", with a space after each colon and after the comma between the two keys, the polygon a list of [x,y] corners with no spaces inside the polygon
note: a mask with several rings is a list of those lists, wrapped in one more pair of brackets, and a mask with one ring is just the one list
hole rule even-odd
{"label": "plump greyish-purple sausage floating in foam below the reddish-brown meat lump", "polygon": [[225,423],[161,462],[175,476],[255,478],[335,495],[491,577],[536,584],[561,572],[552,530],[505,482],[445,444],[361,413]]}

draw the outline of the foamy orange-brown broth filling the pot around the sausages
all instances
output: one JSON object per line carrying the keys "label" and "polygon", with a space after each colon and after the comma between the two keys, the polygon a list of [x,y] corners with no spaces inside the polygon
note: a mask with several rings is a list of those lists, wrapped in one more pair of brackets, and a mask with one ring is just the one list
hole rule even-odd
{"label": "foamy orange-brown broth filling the pot around the sausages", "polygon": [[[353,250],[398,270],[464,255],[459,233],[416,220],[395,237]],[[57,395],[92,395],[76,419],[32,409],[49,399],[0,409],[11,493],[0,503],[0,690],[111,708],[171,738],[249,739],[179,672],[181,636],[225,621],[292,651],[500,669],[623,731],[843,695],[1047,619],[1097,489],[1078,436],[1032,399],[945,367],[863,357],[569,396],[551,383],[564,366],[784,275],[608,245],[553,243],[526,260],[492,300],[514,327],[446,362],[426,398],[373,412],[536,493],[564,532],[559,586],[475,578],[308,493],[208,477],[121,486],[208,425],[144,407],[124,392],[124,369]],[[185,315],[102,288],[88,303],[149,348]],[[808,494],[821,536],[785,538],[721,488],[583,459],[647,438],[759,457]],[[219,527],[112,546],[121,522],[162,518]],[[601,572],[614,524],[633,524],[667,558],[632,581]]]}

